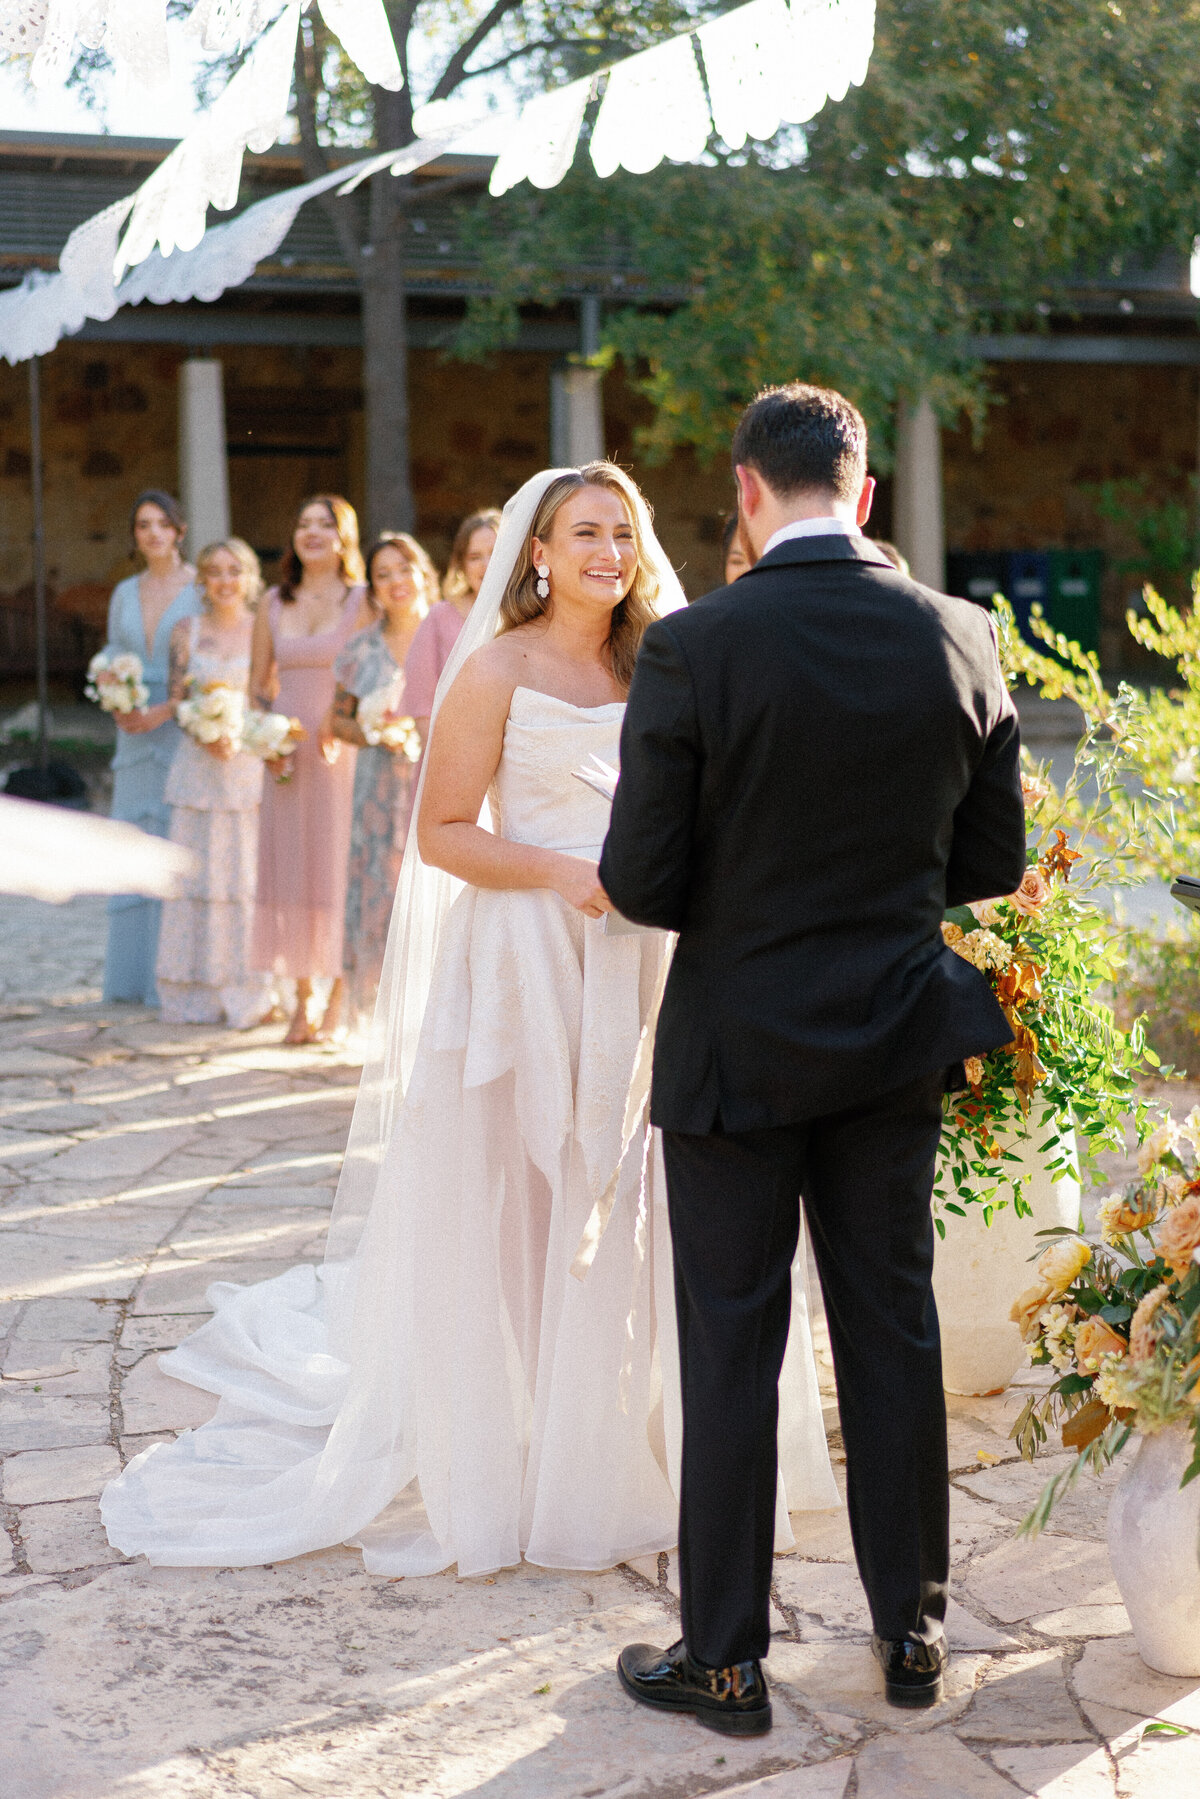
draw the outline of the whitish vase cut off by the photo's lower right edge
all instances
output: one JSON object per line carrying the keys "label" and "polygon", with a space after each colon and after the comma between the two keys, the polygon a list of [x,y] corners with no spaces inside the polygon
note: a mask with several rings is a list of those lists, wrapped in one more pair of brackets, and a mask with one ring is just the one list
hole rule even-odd
{"label": "whitish vase cut off by the photo's lower right edge", "polygon": [[1182,1425],[1142,1437],[1108,1506],[1108,1560],[1137,1653],[1160,1675],[1200,1675],[1200,1481]]}

